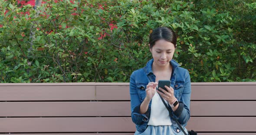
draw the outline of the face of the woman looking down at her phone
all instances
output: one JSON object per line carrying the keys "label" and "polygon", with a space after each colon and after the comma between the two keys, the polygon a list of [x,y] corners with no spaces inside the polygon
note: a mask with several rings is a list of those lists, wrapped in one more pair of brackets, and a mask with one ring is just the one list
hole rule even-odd
{"label": "face of the woman looking down at her phone", "polygon": [[164,67],[169,65],[169,61],[174,55],[175,47],[173,43],[160,39],[155,42],[150,51],[154,58],[154,64]]}

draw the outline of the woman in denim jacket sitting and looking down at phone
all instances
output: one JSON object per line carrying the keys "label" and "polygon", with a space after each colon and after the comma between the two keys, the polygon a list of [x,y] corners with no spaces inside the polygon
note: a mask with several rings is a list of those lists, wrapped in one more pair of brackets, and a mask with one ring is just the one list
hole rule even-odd
{"label": "woman in denim jacket sitting and looking down at phone", "polygon": [[[174,119],[185,127],[190,118],[190,75],[174,61],[177,45],[175,32],[167,27],[154,29],[150,35],[149,48],[153,59],[144,69],[131,74],[131,118],[136,125],[135,135],[183,135]],[[152,78],[150,82],[148,76]],[[171,80],[167,91],[158,91],[158,80]],[[173,111],[169,116],[159,94]],[[187,129],[183,128],[187,133]]]}

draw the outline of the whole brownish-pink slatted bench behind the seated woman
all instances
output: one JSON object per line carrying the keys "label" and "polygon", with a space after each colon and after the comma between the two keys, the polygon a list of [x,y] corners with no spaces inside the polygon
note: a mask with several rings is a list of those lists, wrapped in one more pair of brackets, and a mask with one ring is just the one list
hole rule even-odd
{"label": "whole brownish-pink slatted bench behind the seated woman", "polygon": [[[128,83],[0,84],[0,135],[133,135]],[[256,135],[256,82],[192,83],[187,129]]]}

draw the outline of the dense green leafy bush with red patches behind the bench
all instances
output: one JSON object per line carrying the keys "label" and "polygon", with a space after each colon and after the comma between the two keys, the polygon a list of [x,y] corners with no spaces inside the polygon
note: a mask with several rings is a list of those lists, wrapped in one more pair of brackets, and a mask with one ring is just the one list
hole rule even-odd
{"label": "dense green leafy bush with red patches behind the bench", "polygon": [[255,0],[0,0],[0,82],[129,82],[149,33],[177,32],[192,82],[256,80]]}

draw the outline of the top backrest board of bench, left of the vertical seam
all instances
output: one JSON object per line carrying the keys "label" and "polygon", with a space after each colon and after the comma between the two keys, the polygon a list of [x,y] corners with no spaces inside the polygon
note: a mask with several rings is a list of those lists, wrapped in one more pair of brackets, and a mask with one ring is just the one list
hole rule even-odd
{"label": "top backrest board of bench, left of the vertical seam", "polygon": [[1,86],[0,101],[95,100],[95,86]]}

